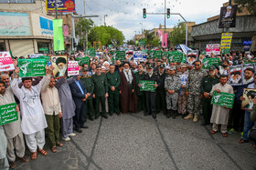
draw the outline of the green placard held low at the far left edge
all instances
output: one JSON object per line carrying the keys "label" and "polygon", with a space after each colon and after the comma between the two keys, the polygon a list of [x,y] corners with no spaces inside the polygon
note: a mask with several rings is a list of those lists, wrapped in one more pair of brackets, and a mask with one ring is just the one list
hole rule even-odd
{"label": "green placard held low at the far left edge", "polygon": [[0,125],[15,122],[17,119],[16,103],[0,105]]}

